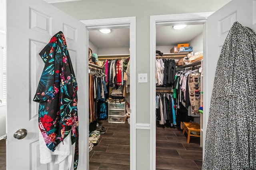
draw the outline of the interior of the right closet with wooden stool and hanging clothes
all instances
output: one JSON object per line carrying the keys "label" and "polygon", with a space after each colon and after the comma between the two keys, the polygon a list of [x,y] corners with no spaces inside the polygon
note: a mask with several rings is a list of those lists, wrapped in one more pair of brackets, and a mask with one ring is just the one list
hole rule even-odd
{"label": "interior of the right closet with wooden stool and hanging clothes", "polygon": [[168,35],[173,37],[169,40],[170,45],[162,46],[162,30],[166,32],[166,28],[173,29],[172,25],[156,27],[156,168],[169,169],[172,161],[190,159],[194,161],[192,166],[196,164],[200,169],[203,139],[202,25],[185,27],[186,32],[200,30],[194,37],[189,33],[176,37],[175,31],[180,30],[172,30]]}

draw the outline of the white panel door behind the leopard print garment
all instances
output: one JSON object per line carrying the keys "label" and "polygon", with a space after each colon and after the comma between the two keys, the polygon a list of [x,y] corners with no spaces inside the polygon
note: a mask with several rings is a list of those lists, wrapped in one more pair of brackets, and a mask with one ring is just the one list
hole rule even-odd
{"label": "white panel door behind the leopard print garment", "polygon": [[207,95],[204,96],[204,143],[218,57],[235,21],[256,31],[256,0],[232,0],[207,19],[207,57],[204,58],[204,95]]}

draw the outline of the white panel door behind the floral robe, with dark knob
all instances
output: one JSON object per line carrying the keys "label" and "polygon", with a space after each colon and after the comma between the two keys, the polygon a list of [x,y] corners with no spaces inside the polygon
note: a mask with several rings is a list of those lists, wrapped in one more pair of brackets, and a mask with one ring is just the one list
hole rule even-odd
{"label": "white panel door behind the floral robe, with dark knob", "polygon": [[[86,31],[85,25],[43,0],[7,1],[7,169],[55,170],[52,162],[40,164],[38,141],[38,103],[33,97],[44,62],[38,53],[58,31],[66,38],[78,82],[79,162],[88,167],[86,142]],[[26,129],[24,139],[14,132]],[[87,160],[87,161],[84,161]]]}

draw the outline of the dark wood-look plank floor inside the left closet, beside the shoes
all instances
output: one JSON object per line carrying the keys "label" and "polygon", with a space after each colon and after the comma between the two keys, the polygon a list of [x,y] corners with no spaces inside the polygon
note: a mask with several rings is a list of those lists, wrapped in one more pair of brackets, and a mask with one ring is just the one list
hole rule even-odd
{"label": "dark wood-look plank floor inside the left closet, beside the shoes", "polygon": [[90,170],[130,170],[130,125],[99,121],[106,127],[90,152]]}

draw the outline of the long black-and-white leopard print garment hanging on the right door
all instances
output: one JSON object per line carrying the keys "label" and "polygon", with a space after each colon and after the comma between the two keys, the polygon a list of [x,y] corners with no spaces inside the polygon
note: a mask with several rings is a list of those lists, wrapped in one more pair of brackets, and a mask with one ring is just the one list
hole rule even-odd
{"label": "long black-and-white leopard print garment hanging on the right door", "polygon": [[256,170],[256,34],[235,22],[215,72],[202,170]]}

